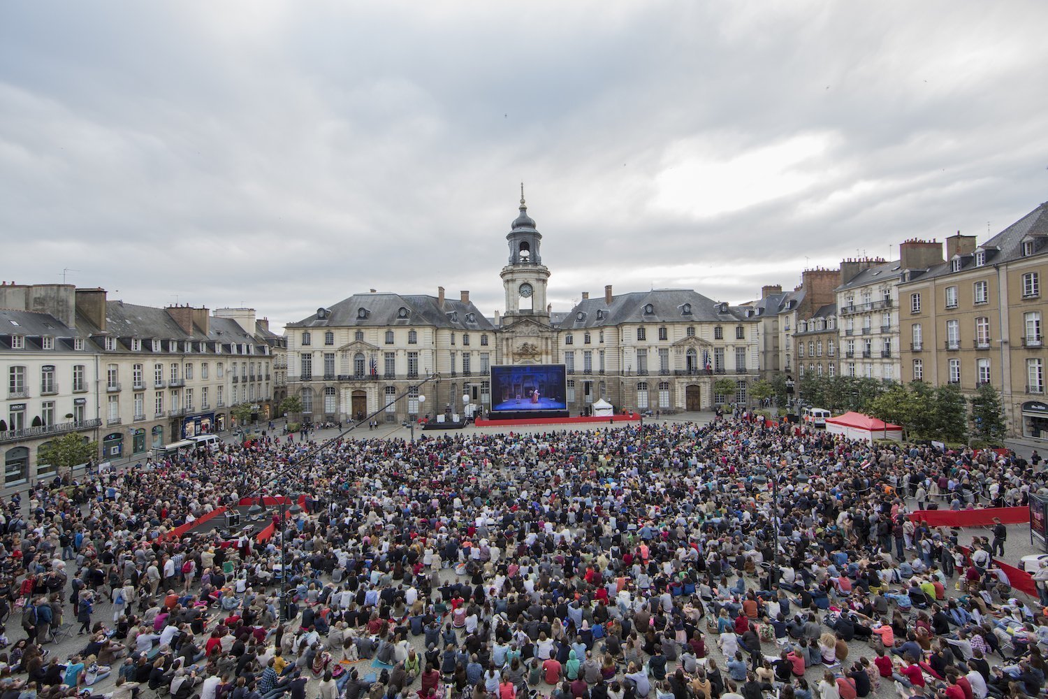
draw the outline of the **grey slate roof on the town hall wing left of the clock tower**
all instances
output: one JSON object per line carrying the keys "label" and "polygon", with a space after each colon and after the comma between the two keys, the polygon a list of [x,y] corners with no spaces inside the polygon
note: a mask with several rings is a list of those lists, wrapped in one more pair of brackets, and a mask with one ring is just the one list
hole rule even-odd
{"label": "grey slate roof on the town hall wing left of the clock tower", "polygon": [[[407,311],[402,315],[400,309]],[[362,316],[361,309],[365,313]],[[288,323],[288,328],[397,327],[431,325],[456,330],[494,330],[492,322],[473,302],[400,293],[354,293],[330,308],[319,308],[309,318]]]}

